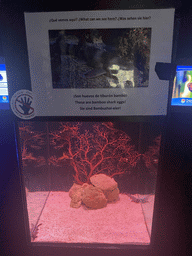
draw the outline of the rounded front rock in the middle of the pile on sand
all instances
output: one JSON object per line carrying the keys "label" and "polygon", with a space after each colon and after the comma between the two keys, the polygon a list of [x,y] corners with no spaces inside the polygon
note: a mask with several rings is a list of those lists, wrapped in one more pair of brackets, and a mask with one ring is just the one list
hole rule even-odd
{"label": "rounded front rock in the middle of the pile on sand", "polygon": [[89,209],[101,209],[107,205],[107,199],[102,190],[92,185],[84,188],[82,202]]}

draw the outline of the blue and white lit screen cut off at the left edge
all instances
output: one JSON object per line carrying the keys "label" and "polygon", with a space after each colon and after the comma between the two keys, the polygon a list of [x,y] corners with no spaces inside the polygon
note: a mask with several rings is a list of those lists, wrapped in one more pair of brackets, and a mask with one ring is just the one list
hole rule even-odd
{"label": "blue and white lit screen cut off at the left edge", "polygon": [[9,96],[5,64],[0,64],[0,109],[9,109]]}

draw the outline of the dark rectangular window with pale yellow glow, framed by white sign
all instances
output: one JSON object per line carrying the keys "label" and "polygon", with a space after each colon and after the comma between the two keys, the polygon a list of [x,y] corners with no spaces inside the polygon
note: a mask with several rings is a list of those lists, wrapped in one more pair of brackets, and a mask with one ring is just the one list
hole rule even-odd
{"label": "dark rectangular window with pale yellow glow, framed by white sign", "polygon": [[151,28],[49,30],[53,88],[148,87]]}

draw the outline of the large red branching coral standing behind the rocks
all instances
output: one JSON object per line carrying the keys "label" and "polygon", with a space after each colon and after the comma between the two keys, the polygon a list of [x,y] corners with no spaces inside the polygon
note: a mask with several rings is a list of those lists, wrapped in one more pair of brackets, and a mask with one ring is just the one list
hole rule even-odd
{"label": "large red branching coral standing behind the rocks", "polygon": [[59,131],[51,133],[54,148],[63,150],[62,156],[52,159],[59,165],[68,161],[78,184],[89,183],[96,173],[113,177],[136,165],[140,154],[125,132],[110,122],[88,125],[82,130],[82,123],[62,123]]}

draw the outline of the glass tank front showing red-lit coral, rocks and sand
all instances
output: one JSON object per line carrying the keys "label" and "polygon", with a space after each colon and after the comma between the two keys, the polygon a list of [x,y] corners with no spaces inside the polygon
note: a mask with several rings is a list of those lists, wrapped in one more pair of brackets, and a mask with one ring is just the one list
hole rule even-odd
{"label": "glass tank front showing red-lit coral, rocks and sand", "polygon": [[33,243],[150,244],[158,123],[19,123]]}

